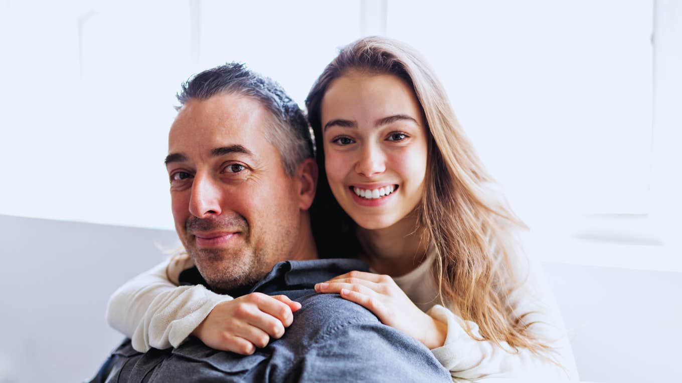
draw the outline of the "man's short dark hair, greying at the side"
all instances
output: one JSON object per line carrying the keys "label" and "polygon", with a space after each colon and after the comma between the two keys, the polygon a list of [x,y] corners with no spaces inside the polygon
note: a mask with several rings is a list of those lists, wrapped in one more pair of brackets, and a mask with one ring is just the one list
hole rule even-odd
{"label": "man's short dark hair, greying at the side", "polygon": [[177,109],[190,99],[223,93],[253,97],[270,112],[273,124],[265,127],[265,139],[280,151],[289,177],[304,159],[314,156],[312,130],[298,104],[277,82],[241,63],[226,63],[192,76],[177,94],[181,104]]}

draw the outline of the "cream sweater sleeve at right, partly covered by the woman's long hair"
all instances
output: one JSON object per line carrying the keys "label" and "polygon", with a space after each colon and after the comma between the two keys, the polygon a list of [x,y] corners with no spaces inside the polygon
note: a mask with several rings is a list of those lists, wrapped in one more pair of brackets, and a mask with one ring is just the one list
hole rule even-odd
{"label": "cream sweater sleeve at right, partly covered by the woman's long hair", "polygon": [[[578,373],[563,326],[563,320],[548,284],[537,264],[531,262],[530,273],[525,283],[509,297],[514,303],[517,315],[529,313],[525,323],[544,343],[552,346],[550,355],[559,365],[546,361],[526,348],[513,350],[506,342],[502,347],[494,341],[473,339],[464,331],[471,328],[475,337],[480,338],[479,326],[464,321],[455,313],[441,305],[432,307],[428,314],[447,324],[445,344],[432,350],[434,356],[450,371],[455,381],[498,380],[516,378],[524,381],[557,382],[578,380]],[[505,350],[505,348],[507,350]]]}

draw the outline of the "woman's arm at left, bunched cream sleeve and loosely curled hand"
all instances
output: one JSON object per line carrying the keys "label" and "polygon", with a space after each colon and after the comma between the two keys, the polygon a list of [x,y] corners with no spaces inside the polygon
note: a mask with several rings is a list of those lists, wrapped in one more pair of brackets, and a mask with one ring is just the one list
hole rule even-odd
{"label": "woman's arm at left, bunched cream sleeve and loosely curled hand", "polygon": [[177,347],[194,335],[216,350],[252,354],[282,337],[301,308],[284,295],[233,299],[201,285],[176,286],[180,272],[193,265],[188,257],[173,258],[126,282],[109,299],[109,325],[139,352]]}

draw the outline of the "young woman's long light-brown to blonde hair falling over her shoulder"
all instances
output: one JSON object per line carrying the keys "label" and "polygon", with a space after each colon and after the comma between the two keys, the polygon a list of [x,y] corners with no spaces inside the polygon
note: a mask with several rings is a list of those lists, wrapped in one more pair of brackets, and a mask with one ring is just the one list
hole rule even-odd
{"label": "young woman's long light-brown to blonde hair falling over her shoulder", "polygon": [[[527,348],[541,355],[549,347],[537,339],[508,295],[518,286],[510,256],[516,230],[526,228],[500,198],[486,198],[493,180],[464,136],[445,89],[413,48],[385,37],[366,37],[342,48],[325,68],[306,99],[308,119],[318,145],[321,180],[311,209],[321,255],[349,256],[359,249],[355,224],[331,195],[321,150],[321,103],[329,83],[349,70],[394,74],[411,85],[428,124],[428,162],[418,224],[434,245],[434,277],[441,302],[449,301],[464,320],[478,324],[480,340]],[[329,222],[338,226],[330,225]],[[516,257],[518,259],[518,257]],[[471,328],[466,332],[475,337]]]}

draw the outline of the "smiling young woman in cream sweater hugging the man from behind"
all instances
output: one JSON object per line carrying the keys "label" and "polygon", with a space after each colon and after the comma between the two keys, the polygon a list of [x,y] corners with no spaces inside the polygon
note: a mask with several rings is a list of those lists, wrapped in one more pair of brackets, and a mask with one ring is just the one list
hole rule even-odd
{"label": "smiling young woman in cream sweater hugging the man from behind", "polygon": [[[524,226],[494,191],[426,62],[394,40],[358,40],[327,65],[306,106],[321,170],[311,211],[327,246],[321,256],[358,256],[374,272],[339,275],[316,290],[340,293],[415,337],[453,378],[576,379],[542,272],[516,244]],[[176,331],[186,336],[228,299],[171,287],[168,279],[190,265],[182,262],[112,297],[110,324],[136,348],[177,346],[184,338],[173,339],[175,328],[186,322]],[[153,299],[147,311],[134,307],[143,295]]]}

